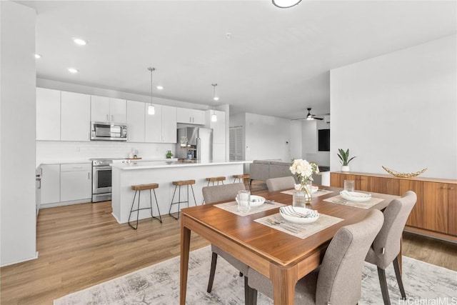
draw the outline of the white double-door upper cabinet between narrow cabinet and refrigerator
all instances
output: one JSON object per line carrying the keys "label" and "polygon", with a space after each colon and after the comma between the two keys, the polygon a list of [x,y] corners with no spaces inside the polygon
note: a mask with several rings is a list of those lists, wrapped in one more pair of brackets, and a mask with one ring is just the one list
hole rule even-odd
{"label": "white double-door upper cabinet between narrow cabinet and refrigerator", "polygon": [[151,143],[176,143],[176,107],[154,105],[156,113],[149,115],[144,104],[144,141]]}

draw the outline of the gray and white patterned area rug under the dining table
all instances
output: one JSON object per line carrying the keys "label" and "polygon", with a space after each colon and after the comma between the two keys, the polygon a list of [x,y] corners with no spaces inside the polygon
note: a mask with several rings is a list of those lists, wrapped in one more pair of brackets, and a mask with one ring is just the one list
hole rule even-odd
{"label": "gray and white patterned area rug under the dining table", "polygon": [[[54,300],[55,305],[174,305],[179,304],[179,256],[117,279]],[[187,304],[244,304],[243,278],[219,258],[213,291],[206,292],[211,248],[191,251]],[[391,304],[457,304],[457,272],[403,257],[403,284],[408,299],[401,301],[393,267],[386,270]],[[348,285],[351,285],[348,279]],[[258,294],[258,305],[273,304]],[[362,296],[358,304],[383,304],[376,266],[363,269]]]}

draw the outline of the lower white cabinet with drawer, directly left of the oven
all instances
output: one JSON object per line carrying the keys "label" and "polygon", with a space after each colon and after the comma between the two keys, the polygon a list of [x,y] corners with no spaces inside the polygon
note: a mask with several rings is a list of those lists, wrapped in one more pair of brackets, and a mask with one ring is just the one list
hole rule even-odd
{"label": "lower white cabinet with drawer, directly left of the oven", "polygon": [[73,201],[92,197],[92,164],[61,164],[60,201]]}

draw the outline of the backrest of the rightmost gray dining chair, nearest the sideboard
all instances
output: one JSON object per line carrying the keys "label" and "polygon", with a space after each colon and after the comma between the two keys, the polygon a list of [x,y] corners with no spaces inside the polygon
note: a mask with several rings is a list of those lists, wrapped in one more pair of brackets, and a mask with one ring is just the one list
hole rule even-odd
{"label": "backrest of the rightmost gray dining chair, nearest the sideboard", "polygon": [[416,204],[417,196],[413,191],[407,191],[399,199],[393,199],[384,210],[384,224],[378,236],[373,241],[367,261],[386,269],[400,253],[401,234],[405,228],[408,216]]}

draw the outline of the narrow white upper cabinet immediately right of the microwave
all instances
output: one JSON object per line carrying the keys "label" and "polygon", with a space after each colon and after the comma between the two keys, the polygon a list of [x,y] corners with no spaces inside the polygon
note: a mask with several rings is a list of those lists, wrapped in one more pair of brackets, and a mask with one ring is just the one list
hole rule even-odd
{"label": "narrow white upper cabinet immediately right of the microwave", "polygon": [[144,142],[145,107],[141,101],[127,101],[127,141]]}

